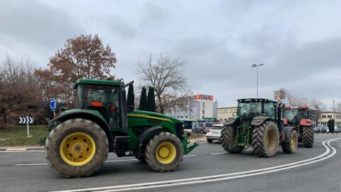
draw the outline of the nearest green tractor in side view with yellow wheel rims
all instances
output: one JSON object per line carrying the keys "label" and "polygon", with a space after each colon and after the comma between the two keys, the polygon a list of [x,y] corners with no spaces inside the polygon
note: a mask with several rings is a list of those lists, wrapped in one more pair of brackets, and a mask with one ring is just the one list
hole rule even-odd
{"label": "nearest green tractor in side view with yellow wheel rims", "polygon": [[45,157],[55,171],[66,178],[90,176],[109,152],[135,156],[155,171],[173,171],[198,146],[188,145],[182,121],[127,109],[124,88],[132,83],[77,80],[76,109],[64,109],[49,122],[55,128],[46,140]]}

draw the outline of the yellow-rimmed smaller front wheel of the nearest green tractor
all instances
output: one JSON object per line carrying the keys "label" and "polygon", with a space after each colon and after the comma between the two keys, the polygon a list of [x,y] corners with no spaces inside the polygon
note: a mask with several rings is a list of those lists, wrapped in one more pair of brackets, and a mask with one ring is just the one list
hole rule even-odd
{"label": "yellow-rimmed smaller front wheel of the nearest green tractor", "polygon": [[159,172],[174,171],[183,161],[183,145],[169,132],[154,135],[146,144],[145,159],[151,169]]}

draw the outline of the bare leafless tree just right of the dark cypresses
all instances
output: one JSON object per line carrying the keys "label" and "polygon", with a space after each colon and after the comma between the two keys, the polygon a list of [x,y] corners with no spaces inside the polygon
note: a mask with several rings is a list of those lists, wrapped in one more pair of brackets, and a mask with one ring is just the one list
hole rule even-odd
{"label": "bare leafless tree just right of the dark cypresses", "polygon": [[184,60],[170,58],[167,53],[154,60],[151,54],[146,60],[139,60],[137,66],[140,84],[154,87],[158,112],[177,111],[187,105],[190,90],[183,73]]}

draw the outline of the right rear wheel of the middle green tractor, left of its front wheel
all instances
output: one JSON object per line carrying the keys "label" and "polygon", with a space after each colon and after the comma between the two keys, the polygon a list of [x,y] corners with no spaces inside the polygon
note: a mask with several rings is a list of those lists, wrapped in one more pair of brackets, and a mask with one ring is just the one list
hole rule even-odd
{"label": "right rear wheel of the middle green tractor, left of its front wheel", "polygon": [[[266,139],[268,143],[266,144]],[[254,127],[252,148],[254,153],[261,157],[275,156],[279,144],[278,127],[274,122],[266,121]]]}

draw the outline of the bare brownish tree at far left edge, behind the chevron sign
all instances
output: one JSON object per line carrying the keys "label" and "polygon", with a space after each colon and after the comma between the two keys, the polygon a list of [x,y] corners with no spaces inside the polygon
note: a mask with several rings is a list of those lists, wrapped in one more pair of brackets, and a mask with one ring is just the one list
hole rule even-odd
{"label": "bare brownish tree at far left edge, behind the chevron sign", "polygon": [[[3,65],[2,65],[3,64]],[[9,55],[0,67],[0,126],[16,124],[19,116],[39,113],[40,90],[29,58],[19,62]]]}

